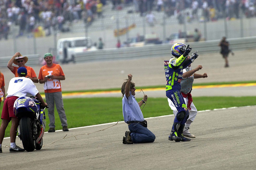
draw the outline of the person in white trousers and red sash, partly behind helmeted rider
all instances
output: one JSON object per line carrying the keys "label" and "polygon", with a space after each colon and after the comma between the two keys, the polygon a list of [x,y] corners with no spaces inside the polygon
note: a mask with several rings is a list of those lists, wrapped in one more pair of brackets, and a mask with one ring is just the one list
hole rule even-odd
{"label": "person in white trousers and red sash, partly behind helmeted rider", "polygon": [[[187,60],[190,59],[190,56],[188,55]],[[180,82],[181,85],[181,94],[184,98],[185,104],[189,110],[189,117],[187,122],[185,123],[185,128],[183,129],[183,133],[182,135],[184,137],[191,137],[191,138],[195,138],[195,135],[192,135],[188,130],[189,130],[189,126],[192,122],[194,122],[194,119],[196,117],[197,114],[197,109],[193,103],[193,99],[191,96],[191,90],[192,90],[192,84],[194,81],[194,78],[207,78],[207,74],[196,74],[195,72],[198,70],[201,70],[203,67],[201,65],[198,65],[195,69],[192,70],[191,68],[191,64],[186,67],[185,69],[183,69],[183,77],[182,80]],[[177,108],[174,106],[172,100],[170,100],[169,98],[167,99],[169,102],[169,106],[171,107],[171,109],[173,110],[173,115],[177,115],[178,110]]]}

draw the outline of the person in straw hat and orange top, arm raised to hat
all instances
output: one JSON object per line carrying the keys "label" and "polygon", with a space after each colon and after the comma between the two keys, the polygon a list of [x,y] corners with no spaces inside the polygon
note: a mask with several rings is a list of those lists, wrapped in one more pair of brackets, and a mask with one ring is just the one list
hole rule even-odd
{"label": "person in straw hat and orange top, arm raised to hat", "polygon": [[[19,52],[17,52],[9,60],[7,67],[12,71],[15,77],[18,77],[18,73],[17,73],[18,68],[25,67],[28,71],[27,78],[30,78],[34,83],[38,83],[38,79],[36,77],[36,72],[34,71],[34,69],[32,67],[25,66],[25,63],[27,63],[27,61],[28,61],[28,57],[26,56],[23,57]],[[18,65],[19,67],[12,66],[12,63]]]}

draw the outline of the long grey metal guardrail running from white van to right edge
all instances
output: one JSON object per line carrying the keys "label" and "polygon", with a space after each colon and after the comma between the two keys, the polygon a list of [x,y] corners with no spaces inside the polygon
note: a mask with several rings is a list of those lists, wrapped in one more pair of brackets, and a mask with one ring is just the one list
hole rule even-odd
{"label": "long grey metal guardrail running from white van to right edge", "polygon": [[[233,51],[244,49],[256,49],[256,37],[229,39],[230,49]],[[191,42],[190,47],[199,54],[216,53],[220,51],[219,40]],[[156,56],[171,56],[172,44],[146,45],[143,47],[126,47],[87,51],[76,54],[76,62],[117,60],[145,58]]]}

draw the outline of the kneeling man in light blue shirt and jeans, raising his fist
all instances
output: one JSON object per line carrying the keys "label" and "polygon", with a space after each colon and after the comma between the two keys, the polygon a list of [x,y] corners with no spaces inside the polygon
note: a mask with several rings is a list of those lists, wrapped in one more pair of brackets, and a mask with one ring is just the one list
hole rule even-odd
{"label": "kneeling man in light blue shirt and jeans, raising his fist", "polygon": [[124,122],[128,124],[130,131],[125,132],[123,144],[154,142],[156,136],[148,130],[147,121],[144,119],[140,107],[145,104],[148,96],[144,95],[140,102],[135,99],[135,83],[132,82],[132,74],[128,74],[128,79],[123,83],[121,92],[123,94],[123,116]]}

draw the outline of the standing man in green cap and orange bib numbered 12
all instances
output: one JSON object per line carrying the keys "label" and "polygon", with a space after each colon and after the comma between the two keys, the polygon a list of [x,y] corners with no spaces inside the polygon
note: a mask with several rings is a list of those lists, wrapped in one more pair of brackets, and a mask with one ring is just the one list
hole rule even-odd
{"label": "standing man in green cap and orange bib numbered 12", "polygon": [[54,102],[57,112],[60,116],[61,126],[63,131],[68,131],[67,117],[64,110],[60,80],[65,80],[65,74],[60,67],[60,64],[52,63],[52,54],[44,54],[46,65],[41,67],[39,71],[39,83],[44,84],[45,99],[48,103],[49,130],[55,132],[55,117],[54,117]]}

